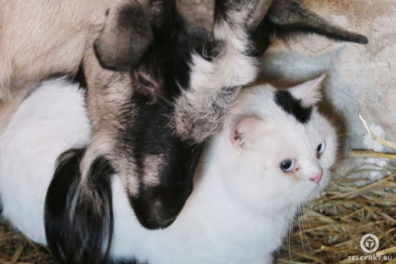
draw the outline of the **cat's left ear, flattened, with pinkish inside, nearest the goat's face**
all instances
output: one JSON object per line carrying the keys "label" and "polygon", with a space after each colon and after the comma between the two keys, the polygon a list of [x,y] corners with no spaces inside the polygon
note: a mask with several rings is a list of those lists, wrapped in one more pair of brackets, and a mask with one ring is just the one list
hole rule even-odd
{"label": "cat's left ear, flattened, with pinkish inside, nearest the goat's face", "polygon": [[231,141],[235,148],[247,147],[250,139],[260,131],[265,130],[265,123],[255,118],[246,118],[237,123]]}

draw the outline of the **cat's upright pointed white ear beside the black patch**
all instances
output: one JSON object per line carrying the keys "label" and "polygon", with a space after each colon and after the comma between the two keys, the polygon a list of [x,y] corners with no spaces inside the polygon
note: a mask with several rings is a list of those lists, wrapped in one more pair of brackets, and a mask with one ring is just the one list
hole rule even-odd
{"label": "cat's upright pointed white ear beside the black patch", "polygon": [[311,107],[322,100],[320,88],[325,77],[326,75],[323,74],[319,78],[309,80],[296,87],[290,88],[289,91],[294,97],[301,100],[302,106]]}

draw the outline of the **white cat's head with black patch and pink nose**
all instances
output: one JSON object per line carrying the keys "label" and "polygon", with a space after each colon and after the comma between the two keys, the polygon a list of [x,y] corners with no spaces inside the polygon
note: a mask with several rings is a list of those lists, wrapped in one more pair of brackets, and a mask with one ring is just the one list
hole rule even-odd
{"label": "white cat's head with black patch and pink nose", "polygon": [[236,199],[276,210],[311,200],[326,187],[337,136],[316,107],[323,79],[288,90],[261,85],[242,92],[216,144],[224,182]]}

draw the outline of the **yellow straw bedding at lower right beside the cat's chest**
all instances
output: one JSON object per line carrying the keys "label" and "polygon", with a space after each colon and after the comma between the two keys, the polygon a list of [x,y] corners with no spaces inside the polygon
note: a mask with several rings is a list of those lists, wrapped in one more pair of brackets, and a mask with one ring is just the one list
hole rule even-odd
{"label": "yellow straw bedding at lower right beside the cat's chest", "polygon": [[[279,263],[396,263],[396,164],[374,166],[364,164],[335,176],[325,194],[301,210],[304,214],[296,218]],[[361,177],[373,171],[384,177],[375,181]],[[367,233],[379,238],[373,256],[383,254],[392,261],[348,259],[369,256],[360,249],[360,239]]]}

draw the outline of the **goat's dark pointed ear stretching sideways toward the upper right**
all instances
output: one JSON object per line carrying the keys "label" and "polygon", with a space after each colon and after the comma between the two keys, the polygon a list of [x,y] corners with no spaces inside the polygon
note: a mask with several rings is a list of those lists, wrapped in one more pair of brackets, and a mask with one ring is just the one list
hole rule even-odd
{"label": "goat's dark pointed ear stretching sideways toward the upper right", "polygon": [[332,25],[296,0],[274,0],[266,18],[281,38],[289,34],[316,33],[340,41],[368,43],[366,37]]}

